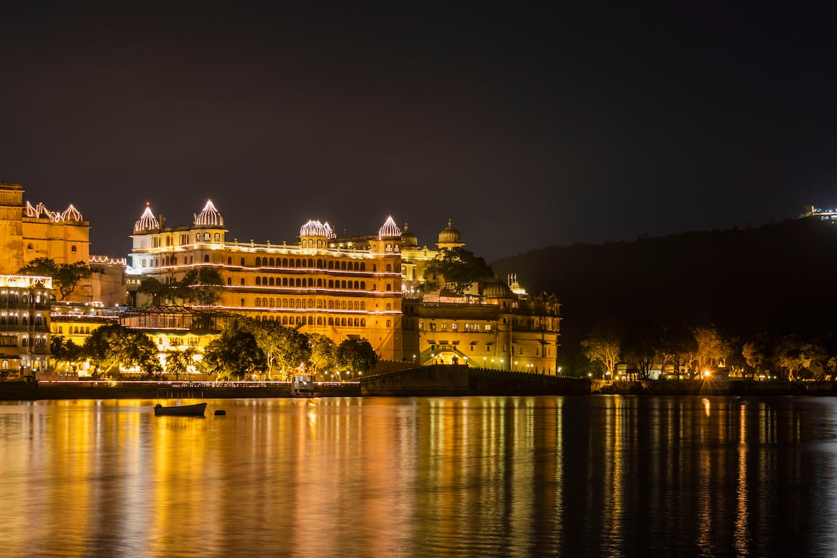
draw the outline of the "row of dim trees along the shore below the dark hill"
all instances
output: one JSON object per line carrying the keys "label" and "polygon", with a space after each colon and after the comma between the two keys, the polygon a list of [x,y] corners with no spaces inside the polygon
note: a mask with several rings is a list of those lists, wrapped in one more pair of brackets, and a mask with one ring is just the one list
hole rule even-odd
{"label": "row of dim trees along the shore below the dark hill", "polygon": [[837,374],[834,346],[768,332],[741,340],[712,325],[606,320],[593,326],[581,348],[574,370],[604,379],[648,379],[652,371],[696,379],[721,369],[733,377],[789,381],[833,380]]}

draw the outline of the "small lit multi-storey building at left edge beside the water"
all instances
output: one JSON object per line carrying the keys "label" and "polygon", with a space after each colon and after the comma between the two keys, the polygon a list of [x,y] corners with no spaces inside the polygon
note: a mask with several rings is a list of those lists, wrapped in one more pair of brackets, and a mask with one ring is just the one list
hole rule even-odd
{"label": "small lit multi-storey building at left edge beside the water", "polygon": [[0,371],[19,376],[49,369],[52,279],[0,275]]}

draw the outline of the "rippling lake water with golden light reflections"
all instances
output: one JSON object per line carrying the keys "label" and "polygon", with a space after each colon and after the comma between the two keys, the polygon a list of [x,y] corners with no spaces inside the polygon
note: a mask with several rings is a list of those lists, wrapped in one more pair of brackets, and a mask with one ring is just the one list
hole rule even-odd
{"label": "rippling lake water with golden light reflections", "polygon": [[831,398],[153,403],[0,403],[0,555],[837,555]]}

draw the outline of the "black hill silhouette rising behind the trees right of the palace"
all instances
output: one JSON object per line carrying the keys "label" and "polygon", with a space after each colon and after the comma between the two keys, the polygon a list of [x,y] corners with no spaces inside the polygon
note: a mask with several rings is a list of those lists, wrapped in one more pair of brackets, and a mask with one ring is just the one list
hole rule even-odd
{"label": "black hill silhouette rising behind the trees right of the palace", "polygon": [[837,330],[837,226],[798,219],[760,228],[542,248],[492,264],[530,293],[562,300],[565,357],[598,321],[648,319],[806,337]]}

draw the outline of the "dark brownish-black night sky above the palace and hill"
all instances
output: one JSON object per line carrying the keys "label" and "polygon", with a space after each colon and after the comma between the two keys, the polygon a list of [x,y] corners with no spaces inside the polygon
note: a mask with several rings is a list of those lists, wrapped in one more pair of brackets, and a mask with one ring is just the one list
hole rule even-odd
{"label": "dark brownish-black night sky above the palace and hill", "polygon": [[93,253],[208,197],[230,238],[452,218],[489,260],[837,205],[829,12],[69,4],[0,11],[0,178]]}

